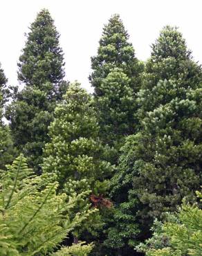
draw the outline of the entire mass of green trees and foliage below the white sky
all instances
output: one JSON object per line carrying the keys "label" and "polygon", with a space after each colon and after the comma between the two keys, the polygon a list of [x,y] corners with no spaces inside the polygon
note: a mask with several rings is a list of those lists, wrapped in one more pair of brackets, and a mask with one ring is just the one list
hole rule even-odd
{"label": "entire mass of green trees and foliage below the white sky", "polygon": [[165,26],[143,63],[113,15],[93,95],[64,81],[48,10],[26,37],[19,86],[0,66],[0,255],[202,255],[202,69],[183,35]]}

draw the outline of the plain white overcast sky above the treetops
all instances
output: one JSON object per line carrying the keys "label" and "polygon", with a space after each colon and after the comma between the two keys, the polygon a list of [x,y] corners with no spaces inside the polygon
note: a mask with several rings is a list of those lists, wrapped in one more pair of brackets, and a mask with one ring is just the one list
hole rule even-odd
{"label": "plain white overcast sky above the treetops", "polygon": [[0,62],[9,84],[17,84],[17,60],[24,33],[42,8],[50,11],[61,34],[66,78],[78,80],[91,91],[90,57],[95,55],[103,25],[119,13],[134,45],[136,56],[147,60],[150,45],[163,26],[178,26],[202,64],[201,0],[0,0]]}

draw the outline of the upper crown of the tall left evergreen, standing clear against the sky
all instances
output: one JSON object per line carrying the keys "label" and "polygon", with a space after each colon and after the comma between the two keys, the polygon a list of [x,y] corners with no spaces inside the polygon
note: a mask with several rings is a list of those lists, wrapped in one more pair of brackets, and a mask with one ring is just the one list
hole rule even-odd
{"label": "upper crown of the tall left evergreen, standing clear against the sky", "polygon": [[48,10],[39,12],[31,24],[18,66],[18,79],[26,85],[62,81],[64,57],[59,47],[59,33]]}

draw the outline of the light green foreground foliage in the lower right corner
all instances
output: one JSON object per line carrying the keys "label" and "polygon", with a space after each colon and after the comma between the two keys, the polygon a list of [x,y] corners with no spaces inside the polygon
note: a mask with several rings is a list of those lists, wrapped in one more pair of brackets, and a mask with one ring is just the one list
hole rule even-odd
{"label": "light green foreground foliage in the lower right corner", "polygon": [[[202,198],[200,192],[197,194]],[[138,246],[138,250],[147,256],[199,256],[202,254],[201,227],[202,210],[199,205],[184,202],[180,212],[169,215],[165,223],[154,228],[154,237]]]}

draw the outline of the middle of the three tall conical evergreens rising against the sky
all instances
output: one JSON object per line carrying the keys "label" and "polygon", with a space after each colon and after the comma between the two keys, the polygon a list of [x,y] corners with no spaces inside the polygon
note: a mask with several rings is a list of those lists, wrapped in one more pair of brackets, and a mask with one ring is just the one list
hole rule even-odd
{"label": "middle of the three tall conical evergreens rising against the sky", "polygon": [[119,15],[113,15],[104,26],[98,55],[91,58],[93,73],[89,78],[95,89],[100,137],[116,149],[120,149],[123,136],[138,127],[136,93],[143,65],[128,39]]}

